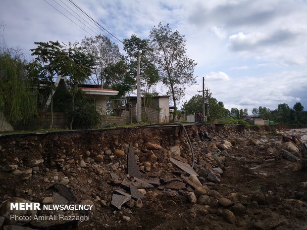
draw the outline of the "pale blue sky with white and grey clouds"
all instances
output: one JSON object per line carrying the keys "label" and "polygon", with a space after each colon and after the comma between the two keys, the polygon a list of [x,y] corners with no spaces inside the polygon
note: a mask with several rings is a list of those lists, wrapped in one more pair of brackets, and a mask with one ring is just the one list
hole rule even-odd
{"label": "pale blue sky with white and grey clouds", "polygon": [[[185,35],[187,53],[198,63],[198,84],[186,90],[184,100],[202,90],[205,77],[205,87],[228,109],[251,113],[259,106],[301,102],[307,110],[306,0],[73,1],[119,40],[132,34],[148,38],[159,22]],[[0,3],[1,40],[18,46],[28,60],[34,42],[108,35],[81,19],[68,0]]]}

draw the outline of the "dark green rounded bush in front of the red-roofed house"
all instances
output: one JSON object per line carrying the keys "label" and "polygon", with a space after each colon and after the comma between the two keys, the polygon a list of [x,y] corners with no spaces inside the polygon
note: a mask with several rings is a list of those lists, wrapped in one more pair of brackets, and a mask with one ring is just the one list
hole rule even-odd
{"label": "dark green rounded bush in front of the red-roofed house", "polygon": [[[72,111],[70,111],[69,115]],[[86,99],[85,93],[78,90],[75,95],[73,129],[95,129],[101,122],[101,115],[96,106]]]}

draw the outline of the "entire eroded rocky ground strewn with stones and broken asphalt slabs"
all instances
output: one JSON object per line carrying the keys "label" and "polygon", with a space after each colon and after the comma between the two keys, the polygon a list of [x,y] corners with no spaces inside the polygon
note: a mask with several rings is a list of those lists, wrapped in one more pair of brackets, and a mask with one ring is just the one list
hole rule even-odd
{"label": "entire eroded rocky ground strewn with stones and broken asphalt slabs", "polygon": [[185,127],[189,138],[181,126],[0,136],[0,229],[307,229],[307,129]]}

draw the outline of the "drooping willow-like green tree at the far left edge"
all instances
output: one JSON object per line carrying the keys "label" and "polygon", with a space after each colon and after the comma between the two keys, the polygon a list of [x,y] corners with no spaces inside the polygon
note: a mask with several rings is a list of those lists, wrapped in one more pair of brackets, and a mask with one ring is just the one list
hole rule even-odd
{"label": "drooping willow-like green tree at the far left edge", "polygon": [[37,91],[28,79],[26,61],[15,50],[0,53],[0,112],[11,125],[37,115]]}

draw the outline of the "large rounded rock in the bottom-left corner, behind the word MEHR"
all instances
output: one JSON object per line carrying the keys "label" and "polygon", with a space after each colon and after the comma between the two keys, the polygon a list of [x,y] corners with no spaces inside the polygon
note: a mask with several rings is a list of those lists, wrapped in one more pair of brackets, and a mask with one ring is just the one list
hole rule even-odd
{"label": "large rounded rock in the bottom-left corner, behind the word MEHR", "polygon": [[[14,197],[4,201],[0,206],[0,216],[4,217],[5,225],[24,225],[26,223],[29,223],[31,219],[33,219],[34,216],[37,214],[37,210],[15,210],[15,209],[11,210],[10,203],[34,203],[34,202],[19,197]],[[28,216],[29,219],[26,220],[25,218],[22,218],[22,220],[20,220],[20,219],[10,218],[10,215]]]}

